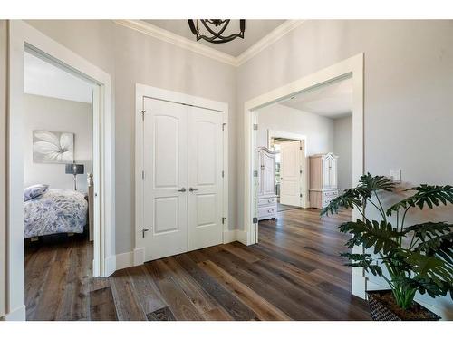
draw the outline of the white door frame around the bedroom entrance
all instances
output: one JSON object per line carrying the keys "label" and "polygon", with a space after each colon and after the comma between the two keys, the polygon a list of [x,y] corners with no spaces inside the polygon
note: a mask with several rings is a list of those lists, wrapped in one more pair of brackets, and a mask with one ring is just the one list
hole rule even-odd
{"label": "white door frame around the bedroom entrance", "polygon": [[[99,136],[99,228],[94,231],[93,275],[108,277],[115,271],[115,161],[114,117],[111,111],[111,76],[62,44],[21,20],[9,21],[9,110],[7,182],[6,319],[25,319],[24,306],[24,51],[42,53],[73,73],[99,85],[100,112],[93,123]],[[94,115],[96,117],[96,114]],[[95,141],[93,141],[93,144]]]}

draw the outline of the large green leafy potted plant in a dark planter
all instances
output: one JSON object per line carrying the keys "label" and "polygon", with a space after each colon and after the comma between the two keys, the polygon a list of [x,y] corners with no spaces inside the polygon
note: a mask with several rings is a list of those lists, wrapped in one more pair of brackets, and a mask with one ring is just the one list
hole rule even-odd
{"label": "large green leafy potted plant in a dark planter", "polygon": [[[373,320],[438,320],[439,316],[414,302],[414,297],[419,292],[432,297],[449,294],[453,298],[453,224],[424,222],[406,226],[405,221],[410,209],[453,203],[453,187],[423,184],[406,189],[413,195],[384,209],[380,194],[394,189],[392,180],[368,173],[361,176],[357,187],[333,199],[321,215],[340,209],[357,209],[361,214],[361,219],[342,223],[339,229],[352,234],[346,243],[348,248],[362,246],[364,251],[341,256],[349,260],[346,266],[362,267],[383,277],[389,285],[390,290],[367,291]],[[367,217],[370,208],[379,212],[380,220]]]}

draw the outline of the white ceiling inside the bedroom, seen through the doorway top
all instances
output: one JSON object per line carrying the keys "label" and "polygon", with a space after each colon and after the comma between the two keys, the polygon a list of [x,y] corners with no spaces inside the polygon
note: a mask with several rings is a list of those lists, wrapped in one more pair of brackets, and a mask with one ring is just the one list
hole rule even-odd
{"label": "white ceiling inside the bedroom, seen through the doorway top", "polygon": [[92,83],[47,63],[32,53],[24,53],[25,93],[91,103],[92,88]]}

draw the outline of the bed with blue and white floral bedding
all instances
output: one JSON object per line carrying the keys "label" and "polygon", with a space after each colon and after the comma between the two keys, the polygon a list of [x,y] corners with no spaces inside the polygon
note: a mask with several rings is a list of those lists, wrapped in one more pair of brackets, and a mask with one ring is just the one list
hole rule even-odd
{"label": "bed with blue and white floral bedding", "polygon": [[47,189],[24,202],[25,238],[82,233],[88,222],[88,201],[72,189]]}

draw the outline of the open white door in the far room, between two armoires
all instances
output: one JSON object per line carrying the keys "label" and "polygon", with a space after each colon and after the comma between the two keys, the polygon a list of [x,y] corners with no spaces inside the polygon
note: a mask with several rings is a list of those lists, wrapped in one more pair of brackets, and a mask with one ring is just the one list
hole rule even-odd
{"label": "open white door in the far room, between two armoires", "polygon": [[280,203],[302,207],[300,141],[280,144]]}

